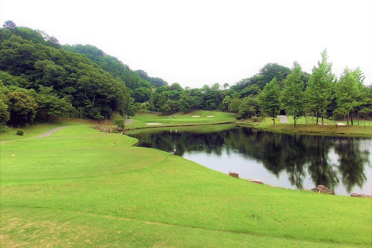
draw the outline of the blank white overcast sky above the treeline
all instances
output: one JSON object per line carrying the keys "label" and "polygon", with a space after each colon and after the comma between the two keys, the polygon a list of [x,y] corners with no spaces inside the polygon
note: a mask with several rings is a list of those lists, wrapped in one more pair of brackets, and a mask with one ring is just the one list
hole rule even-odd
{"label": "blank white overcast sky above the treeline", "polygon": [[372,83],[371,0],[0,0],[6,20],[182,87],[232,85],[267,63],[311,73],[324,48],[337,77],[359,66]]}

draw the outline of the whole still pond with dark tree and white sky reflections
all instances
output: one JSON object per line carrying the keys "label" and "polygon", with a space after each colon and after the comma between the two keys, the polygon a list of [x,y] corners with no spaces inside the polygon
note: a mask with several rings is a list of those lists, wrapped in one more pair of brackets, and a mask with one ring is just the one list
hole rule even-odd
{"label": "whole still pond with dark tree and white sky reflections", "polygon": [[302,189],[323,184],[335,194],[372,194],[372,138],[277,133],[235,125],[129,131],[138,146],[176,155],[223,173]]}

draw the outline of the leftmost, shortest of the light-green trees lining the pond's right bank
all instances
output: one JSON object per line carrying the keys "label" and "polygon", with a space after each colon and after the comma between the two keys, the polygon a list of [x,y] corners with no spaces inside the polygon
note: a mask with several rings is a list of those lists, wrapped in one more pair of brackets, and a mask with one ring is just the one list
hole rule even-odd
{"label": "leftmost, shortest of the light-green trees lining the pond's right bank", "polygon": [[280,87],[276,77],[263,87],[263,91],[258,96],[258,104],[261,112],[273,117],[275,125],[275,114],[280,110]]}

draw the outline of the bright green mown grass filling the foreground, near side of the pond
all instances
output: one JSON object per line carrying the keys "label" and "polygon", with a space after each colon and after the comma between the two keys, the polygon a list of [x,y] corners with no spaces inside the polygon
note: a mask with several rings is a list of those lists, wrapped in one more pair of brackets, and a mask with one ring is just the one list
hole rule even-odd
{"label": "bright green mown grass filling the foreground, near side of the pond", "polygon": [[70,126],[1,144],[1,247],[371,247],[371,199],[257,185],[136,141]]}

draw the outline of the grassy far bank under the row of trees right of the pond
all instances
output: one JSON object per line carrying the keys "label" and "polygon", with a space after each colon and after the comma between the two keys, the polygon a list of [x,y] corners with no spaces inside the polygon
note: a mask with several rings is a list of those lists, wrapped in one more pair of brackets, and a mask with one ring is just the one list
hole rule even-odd
{"label": "grassy far bank under the row of trees right of the pond", "polygon": [[[250,125],[254,126],[255,128],[266,129],[270,131],[285,131],[285,132],[301,132],[301,133],[328,133],[328,134],[346,134],[346,135],[364,135],[364,136],[372,136],[372,126],[368,125],[366,122],[366,126],[364,127],[363,122],[359,121],[359,126],[356,126],[356,122],[354,122],[354,126],[347,126],[347,125],[334,125],[334,122],[331,120],[324,119],[324,123],[328,125],[320,125],[315,124],[315,117],[314,117],[314,124],[312,124],[312,118],[308,117],[308,123],[305,123],[305,118],[301,118],[296,121],[296,126],[294,126],[294,120],[291,116],[288,116],[288,121],[291,123],[280,123],[278,119],[275,119],[275,125],[273,125],[272,117],[266,117],[265,122],[252,122],[251,119],[246,120],[238,120],[235,122],[236,124],[243,124],[243,125]],[[321,120],[319,120],[320,122]],[[340,123],[346,124],[346,122],[342,121]]]}

